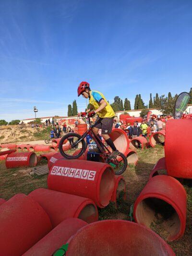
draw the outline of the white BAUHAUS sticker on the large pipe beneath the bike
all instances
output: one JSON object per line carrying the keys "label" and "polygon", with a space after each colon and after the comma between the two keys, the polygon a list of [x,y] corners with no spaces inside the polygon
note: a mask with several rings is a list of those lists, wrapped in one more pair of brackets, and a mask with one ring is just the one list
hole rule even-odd
{"label": "white BAUHAUS sticker on the large pipe beneath the bike", "polygon": [[94,181],[96,176],[96,171],[62,167],[62,166],[53,166],[50,174]]}

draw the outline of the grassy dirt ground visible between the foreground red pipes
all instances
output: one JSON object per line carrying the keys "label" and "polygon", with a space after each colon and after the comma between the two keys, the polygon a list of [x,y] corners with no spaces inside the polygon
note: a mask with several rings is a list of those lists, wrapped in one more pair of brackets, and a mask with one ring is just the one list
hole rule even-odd
{"label": "grassy dirt ground visible between the foreground red pipes", "polygon": [[[164,157],[164,148],[157,146],[155,148],[138,151],[139,161],[136,167],[129,166],[123,176],[126,181],[126,201],[119,200],[118,208],[114,203],[108,207],[99,209],[99,219],[127,219],[130,220],[130,207],[144,188],[148,181],[150,171],[153,169],[156,161]],[[47,188],[47,175],[30,177],[28,173],[18,169],[7,170],[4,161],[0,161],[0,197],[9,199],[17,193],[29,194],[36,188]],[[184,236],[178,240],[169,243],[177,256],[192,255],[192,187],[185,185],[188,195],[187,221]],[[164,233],[157,227],[153,228],[155,232],[164,237]]]}

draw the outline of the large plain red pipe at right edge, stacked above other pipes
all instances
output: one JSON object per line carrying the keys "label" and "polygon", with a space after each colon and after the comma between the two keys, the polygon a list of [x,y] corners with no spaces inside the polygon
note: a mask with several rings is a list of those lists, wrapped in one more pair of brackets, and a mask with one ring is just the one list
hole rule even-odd
{"label": "large plain red pipe at right edge, stacked above other pipes", "polygon": [[[180,134],[180,131],[185,131]],[[166,124],[165,160],[168,175],[192,179],[192,120],[172,119]]]}

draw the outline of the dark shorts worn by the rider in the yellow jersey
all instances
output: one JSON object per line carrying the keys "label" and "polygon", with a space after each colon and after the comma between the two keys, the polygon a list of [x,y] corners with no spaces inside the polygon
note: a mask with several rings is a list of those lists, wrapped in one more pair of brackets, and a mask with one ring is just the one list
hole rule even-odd
{"label": "dark shorts worn by the rider in the yellow jersey", "polygon": [[95,127],[101,129],[101,134],[110,134],[113,128],[114,117],[97,117]]}

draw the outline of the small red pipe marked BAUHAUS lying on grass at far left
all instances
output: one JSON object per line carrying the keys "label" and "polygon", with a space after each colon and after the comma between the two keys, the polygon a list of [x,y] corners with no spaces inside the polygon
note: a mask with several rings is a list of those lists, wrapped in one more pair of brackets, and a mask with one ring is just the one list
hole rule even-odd
{"label": "small red pipe marked BAUHAUS lying on grass at far left", "polygon": [[21,166],[33,167],[37,164],[37,157],[34,152],[15,152],[7,155],[5,165],[7,169]]}

